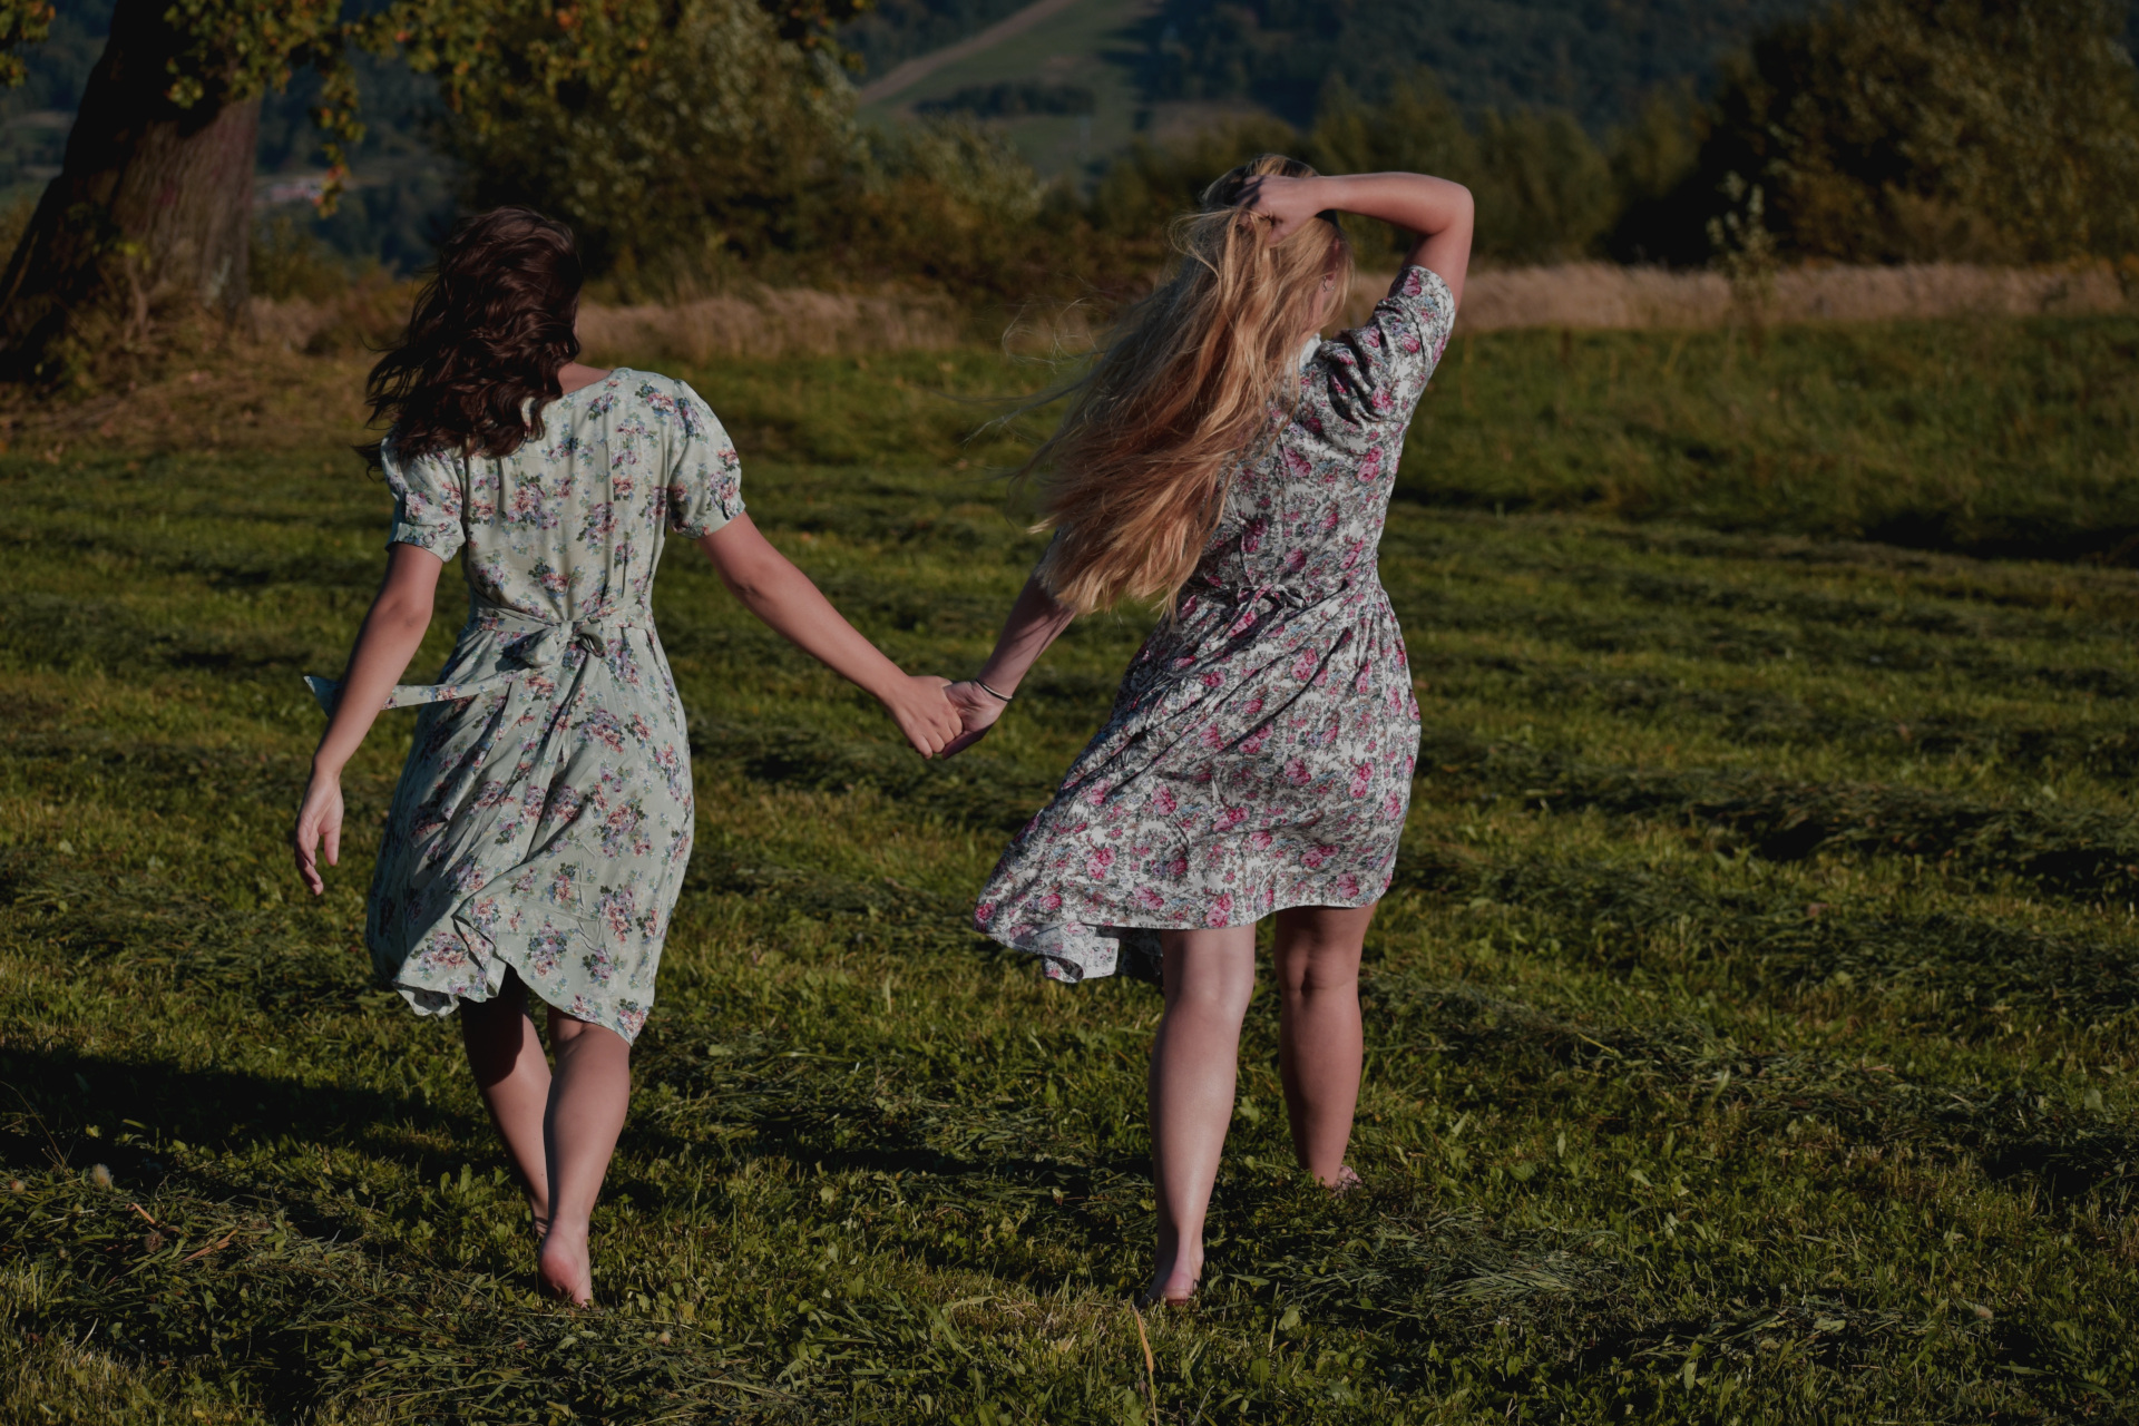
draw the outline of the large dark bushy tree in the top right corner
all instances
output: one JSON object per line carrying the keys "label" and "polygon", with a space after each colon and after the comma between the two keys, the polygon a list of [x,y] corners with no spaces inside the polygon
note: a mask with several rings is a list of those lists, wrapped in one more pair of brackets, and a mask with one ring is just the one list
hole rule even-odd
{"label": "large dark bushy tree in the top right corner", "polygon": [[1861,0],[1782,26],[1733,66],[1692,173],[1615,246],[1705,261],[1711,220],[1743,227],[1758,192],[1799,259],[2139,252],[2122,38],[2111,0]]}

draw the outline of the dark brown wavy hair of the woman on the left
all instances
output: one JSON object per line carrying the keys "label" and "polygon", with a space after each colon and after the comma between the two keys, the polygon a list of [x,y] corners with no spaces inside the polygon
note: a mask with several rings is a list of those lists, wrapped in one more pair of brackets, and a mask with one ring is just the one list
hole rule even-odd
{"label": "dark brown wavy hair of the woman on the left", "polygon": [[[492,207],[453,224],[415,297],[409,327],[364,387],[396,460],[436,451],[511,455],[543,434],[543,402],[580,355],[580,248],[530,207]],[[357,447],[372,466],[381,445]]]}

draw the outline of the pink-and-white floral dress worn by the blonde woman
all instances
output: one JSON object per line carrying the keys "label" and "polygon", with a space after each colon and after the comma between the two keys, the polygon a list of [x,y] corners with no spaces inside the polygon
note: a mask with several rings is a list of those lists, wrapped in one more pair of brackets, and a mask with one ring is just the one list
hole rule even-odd
{"label": "pink-and-white floral dress worn by the blonde woman", "polygon": [[1405,267],[1365,327],[1311,348],[1176,616],[982,889],[982,932],[1057,979],[1112,975],[1123,951],[1151,979],[1164,928],[1388,889],[1418,699],[1375,552],[1452,319],[1448,286]]}

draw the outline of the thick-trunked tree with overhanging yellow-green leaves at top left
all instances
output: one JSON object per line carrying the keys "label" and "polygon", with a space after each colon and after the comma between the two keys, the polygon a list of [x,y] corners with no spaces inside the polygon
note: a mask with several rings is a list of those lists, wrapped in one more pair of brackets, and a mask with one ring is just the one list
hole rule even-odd
{"label": "thick-trunked tree with overhanging yellow-green leaves at top left", "polygon": [[[761,49],[796,60],[866,0],[764,0]],[[509,94],[618,94],[646,83],[657,41],[697,32],[740,0],[118,0],[66,160],[0,276],[0,376],[56,381],[94,351],[139,346],[165,312],[233,319],[246,295],[259,100],[295,71],[323,75],[314,120],[340,148],[361,135],[351,53],[400,53],[477,120]],[[0,0],[0,81],[51,24],[45,0]],[[736,24],[729,32],[740,32]],[[719,68],[725,68],[723,58]]]}

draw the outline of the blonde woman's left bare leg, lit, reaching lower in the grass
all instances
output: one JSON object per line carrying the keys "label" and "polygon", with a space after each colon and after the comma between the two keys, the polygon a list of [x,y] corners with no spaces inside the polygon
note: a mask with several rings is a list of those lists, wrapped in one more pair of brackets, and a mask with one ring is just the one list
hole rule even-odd
{"label": "blonde woman's left bare leg, lit, reaching lower in the grass", "polygon": [[1166,1016],[1151,1041],[1151,1178],[1159,1253],[1144,1302],[1185,1302],[1202,1276],[1202,1225],[1232,1122],[1241,1020],[1256,990],[1256,928],[1170,930]]}

